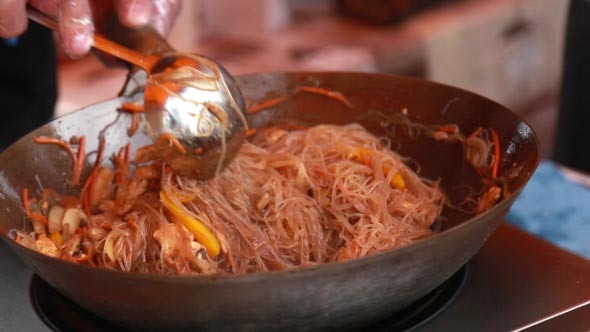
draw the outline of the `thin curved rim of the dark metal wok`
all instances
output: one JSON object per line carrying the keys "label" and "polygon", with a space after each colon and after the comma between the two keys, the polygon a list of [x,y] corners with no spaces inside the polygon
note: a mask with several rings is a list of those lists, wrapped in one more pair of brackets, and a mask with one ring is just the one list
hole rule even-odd
{"label": "thin curved rim of the dark metal wok", "polygon": [[[327,262],[327,263],[322,263],[322,264],[317,264],[317,265],[297,266],[292,269],[280,270],[280,271],[251,272],[251,273],[246,273],[246,274],[226,274],[226,273],[223,273],[223,274],[213,274],[213,275],[163,275],[163,274],[154,274],[154,273],[145,273],[145,272],[125,272],[125,271],[120,271],[120,270],[111,270],[111,269],[107,269],[107,268],[91,267],[91,266],[73,263],[70,261],[65,261],[62,259],[43,255],[37,251],[31,250],[29,248],[19,245],[18,243],[16,243],[13,239],[11,239],[8,236],[8,232],[6,232],[6,233],[0,232],[0,238],[2,238],[2,240],[5,241],[14,251],[16,251],[16,252],[24,251],[24,253],[26,253],[28,256],[36,257],[35,258],[36,260],[49,259],[53,263],[57,262],[57,264],[65,264],[65,267],[70,267],[70,268],[74,268],[74,269],[82,269],[83,271],[88,269],[88,271],[94,271],[94,273],[101,273],[105,277],[111,277],[111,275],[112,275],[117,278],[123,277],[124,279],[127,279],[127,280],[146,280],[146,281],[150,281],[150,282],[187,283],[187,284],[188,283],[190,283],[190,284],[198,283],[198,284],[207,285],[207,284],[219,284],[219,283],[227,283],[227,284],[258,283],[258,282],[266,282],[268,280],[275,280],[275,279],[305,278],[307,276],[313,276],[317,270],[327,270],[327,271],[329,271],[327,273],[330,273],[330,272],[333,273],[333,272],[338,272],[340,270],[349,271],[349,270],[354,269],[357,266],[375,264],[376,261],[383,260],[383,257],[403,255],[403,253],[413,250],[414,248],[418,248],[420,246],[428,246],[430,243],[436,241],[437,239],[439,239],[443,236],[450,236],[449,234],[457,232],[463,228],[473,227],[473,225],[478,223],[480,221],[480,219],[486,219],[486,218],[489,218],[490,215],[496,214],[496,213],[500,212],[501,210],[504,210],[504,209],[507,210],[512,205],[512,203],[516,199],[516,197],[521,193],[523,188],[526,186],[526,183],[531,179],[531,177],[535,173],[535,171],[540,163],[541,155],[540,155],[540,149],[539,149],[539,147],[540,147],[539,137],[538,137],[537,133],[533,130],[531,125],[525,119],[523,119],[516,112],[512,111],[510,108],[508,108],[508,107],[506,107],[506,106],[504,106],[492,99],[482,96],[481,94],[478,94],[478,93],[475,93],[475,92],[472,92],[472,91],[469,91],[466,89],[458,88],[458,87],[455,87],[452,85],[434,82],[434,81],[421,79],[421,78],[405,77],[405,76],[399,76],[399,75],[387,74],[387,73],[362,73],[362,72],[352,72],[352,71],[273,71],[273,72],[248,73],[248,74],[244,74],[244,75],[238,75],[238,76],[236,76],[236,78],[239,81],[240,79],[247,80],[247,79],[260,78],[260,77],[276,77],[276,76],[297,77],[297,76],[303,76],[303,75],[332,75],[332,76],[357,76],[357,77],[365,77],[367,75],[380,76],[383,78],[394,78],[394,79],[400,80],[400,81],[414,82],[414,83],[421,84],[421,85],[432,86],[432,87],[437,87],[437,88],[444,88],[447,90],[454,90],[454,91],[459,92],[461,94],[469,94],[472,97],[476,97],[478,99],[485,100],[487,103],[490,103],[490,105],[493,105],[493,106],[497,107],[498,109],[502,109],[502,113],[511,114],[516,119],[518,119],[518,121],[520,123],[525,124],[526,127],[530,130],[531,139],[534,141],[534,145],[536,146],[536,156],[535,156],[534,164],[532,165],[533,167],[531,168],[531,172],[526,175],[523,185],[521,187],[519,187],[516,191],[512,192],[510,194],[510,196],[503,198],[499,203],[495,204],[494,206],[492,206],[490,209],[486,210],[485,212],[483,212],[481,214],[477,214],[473,217],[470,217],[469,219],[465,220],[464,222],[460,223],[459,225],[455,225],[449,229],[445,229],[440,232],[435,232],[426,238],[416,240],[412,243],[405,244],[400,247],[388,249],[388,250],[377,252],[374,254],[369,254],[364,257],[357,257],[357,258],[347,259],[347,260],[338,261],[338,262]],[[129,99],[133,98],[136,95],[137,94],[135,94],[133,96],[119,96],[119,97],[110,98],[107,100],[99,101],[99,102],[81,107],[81,108],[71,111],[67,114],[63,114],[58,117],[55,117],[51,121],[37,127],[34,130],[42,128],[42,127],[48,125],[49,123],[55,123],[55,122],[61,121],[61,120],[65,119],[75,113],[82,112],[87,109],[99,108],[103,104],[113,103],[115,101],[118,104],[121,104],[122,102],[128,101]],[[8,146],[5,150],[8,150],[12,146],[18,144],[23,138],[24,137],[21,137],[19,140],[17,140],[16,142],[14,142],[10,146]],[[89,152],[92,152],[92,151],[87,151],[87,153],[89,153]],[[2,153],[0,153],[0,156],[1,155],[2,155]],[[0,168],[0,170],[1,170],[1,168]],[[494,226],[494,229],[491,232],[493,232],[496,229],[496,227],[497,226]],[[330,271],[330,270],[332,270],[332,271]]]}

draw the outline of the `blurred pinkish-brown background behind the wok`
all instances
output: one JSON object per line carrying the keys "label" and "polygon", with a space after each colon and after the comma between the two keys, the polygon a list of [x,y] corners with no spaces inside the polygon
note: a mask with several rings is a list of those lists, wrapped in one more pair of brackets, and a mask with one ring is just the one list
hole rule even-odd
{"label": "blurred pinkish-brown background behind the wok", "polygon": [[[233,74],[373,71],[462,87],[523,116],[550,156],[566,0],[184,0],[169,36]],[[61,56],[57,114],[113,97],[124,69]]]}

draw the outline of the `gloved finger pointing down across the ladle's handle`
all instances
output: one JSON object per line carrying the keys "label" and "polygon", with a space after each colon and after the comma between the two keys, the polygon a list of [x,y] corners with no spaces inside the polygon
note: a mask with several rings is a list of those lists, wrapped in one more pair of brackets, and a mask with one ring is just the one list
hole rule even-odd
{"label": "gloved finger pointing down across the ladle's handle", "polygon": [[66,53],[73,58],[88,53],[94,36],[88,0],[59,0],[57,17],[59,35]]}

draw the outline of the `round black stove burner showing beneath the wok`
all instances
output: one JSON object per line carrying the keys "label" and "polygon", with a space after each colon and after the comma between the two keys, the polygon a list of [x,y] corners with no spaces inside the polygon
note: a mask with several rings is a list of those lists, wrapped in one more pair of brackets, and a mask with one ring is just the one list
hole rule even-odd
{"label": "round black stove burner showing beneath the wok", "polygon": [[[464,266],[438,288],[369,330],[409,331],[424,324],[452,302],[465,284],[467,275],[468,268]],[[53,331],[128,331],[80,308],[37,275],[31,279],[29,297],[39,318]]]}

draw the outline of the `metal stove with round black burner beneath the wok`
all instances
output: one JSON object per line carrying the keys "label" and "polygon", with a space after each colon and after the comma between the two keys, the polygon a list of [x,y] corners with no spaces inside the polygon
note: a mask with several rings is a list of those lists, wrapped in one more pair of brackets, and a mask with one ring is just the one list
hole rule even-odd
{"label": "metal stove with round black burner beneath the wok", "polygon": [[[0,331],[123,331],[78,308],[0,244]],[[443,285],[371,331],[588,331],[590,261],[502,224]]]}

